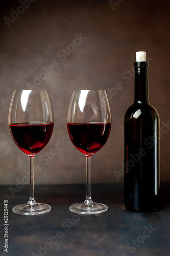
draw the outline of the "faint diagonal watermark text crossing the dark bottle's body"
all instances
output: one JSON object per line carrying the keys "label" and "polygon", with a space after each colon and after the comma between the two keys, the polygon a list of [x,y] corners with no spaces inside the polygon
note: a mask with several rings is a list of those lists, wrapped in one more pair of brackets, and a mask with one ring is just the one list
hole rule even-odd
{"label": "faint diagonal watermark text crossing the dark bottle's body", "polygon": [[[170,123],[169,120],[167,120],[167,122],[165,123],[164,121],[161,122],[161,126],[160,126],[160,132],[158,134],[158,138],[161,139],[163,134],[166,134],[169,130],[170,130]],[[153,143],[154,143],[154,138],[153,136],[149,136],[149,138],[144,140],[144,145],[148,147],[149,150],[151,150],[153,148]],[[127,172],[127,170],[129,170],[129,167],[133,167],[135,165],[135,163],[140,161],[140,157],[144,156],[145,154],[147,154],[147,152],[145,151],[144,148],[139,148],[138,152],[135,154],[130,154],[131,159],[128,160],[127,165],[125,165],[123,162],[121,162],[120,164],[122,165],[122,167],[120,168],[120,170],[114,170],[114,175],[117,179],[117,181],[120,180],[120,177],[124,176],[124,174]]]}

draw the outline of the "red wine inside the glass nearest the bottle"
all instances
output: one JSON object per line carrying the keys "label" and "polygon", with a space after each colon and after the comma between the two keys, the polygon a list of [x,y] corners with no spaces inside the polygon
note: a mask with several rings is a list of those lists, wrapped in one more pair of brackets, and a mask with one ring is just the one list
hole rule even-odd
{"label": "red wine inside the glass nearest the bottle", "polygon": [[98,152],[106,143],[111,123],[67,123],[69,137],[84,155]]}

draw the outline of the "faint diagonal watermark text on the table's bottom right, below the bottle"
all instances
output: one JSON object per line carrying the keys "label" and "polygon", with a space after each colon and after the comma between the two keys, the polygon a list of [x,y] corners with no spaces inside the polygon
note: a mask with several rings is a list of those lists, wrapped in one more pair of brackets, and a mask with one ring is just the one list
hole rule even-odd
{"label": "faint diagonal watermark text on the table's bottom right, below the bottle", "polygon": [[[152,225],[150,224],[149,227],[144,226],[144,230],[141,234],[141,236],[138,236],[136,238],[136,240],[131,240],[131,242],[129,242],[126,245],[126,248],[131,252],[134,253],[136,251],[137,248],[139,248],[146,239],[148,239],[149,237],[151,237],[151,234],[153,234],[154,231],[156,231],[156,228],[153,228]],[[129,254],[127,252],[122,252],[120,254],[120,256],[128,256]]]}

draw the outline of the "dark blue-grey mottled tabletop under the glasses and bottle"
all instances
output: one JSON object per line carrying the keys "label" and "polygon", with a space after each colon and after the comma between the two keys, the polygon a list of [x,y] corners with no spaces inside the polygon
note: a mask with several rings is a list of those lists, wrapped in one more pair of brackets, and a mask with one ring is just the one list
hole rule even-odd
{"label": "dark blue-grey mottled tabletop under the glasses and bottle", "polygon": [[[71,204],[84,201],[85,185],[36,185],[36,201],[52,206],[51,212],[37,216],[12,212],[28,201],[29,186],[14,197],[9,187],[1,186],[2,256],[170,255],[170,184],[161,186],[161,209],[148,213],[126,210],[123,184],[92,184],[93,201],[109,210],[91,216],[69,211]],[[4,200],[9,210],[8,252],[3,248]]]}

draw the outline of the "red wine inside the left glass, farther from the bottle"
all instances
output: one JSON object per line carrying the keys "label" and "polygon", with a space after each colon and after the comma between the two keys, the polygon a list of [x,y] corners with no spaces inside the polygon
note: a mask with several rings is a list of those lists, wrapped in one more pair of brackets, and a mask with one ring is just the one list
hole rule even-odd
{"label": "red wine inside the left glass, farther from the bottle", "polygon": [[37,154],[51,138],[54,123],[31,122],[9,125],[12,138],[21,151]]}

